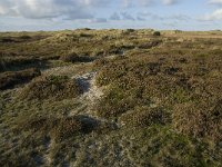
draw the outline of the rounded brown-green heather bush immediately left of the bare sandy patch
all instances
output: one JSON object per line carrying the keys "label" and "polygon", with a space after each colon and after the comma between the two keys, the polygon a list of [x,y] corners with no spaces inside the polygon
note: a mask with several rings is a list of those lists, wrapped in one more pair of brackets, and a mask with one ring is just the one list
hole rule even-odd
{"label": "rounded brown-green heather bush immediately left of the bare sandy patch", "polygon": [[69,79],[67,76],[49,76],[33,80],[22,91],[21,97],[28,99],[47,98],[74,98],[83,90],[75,79]]}

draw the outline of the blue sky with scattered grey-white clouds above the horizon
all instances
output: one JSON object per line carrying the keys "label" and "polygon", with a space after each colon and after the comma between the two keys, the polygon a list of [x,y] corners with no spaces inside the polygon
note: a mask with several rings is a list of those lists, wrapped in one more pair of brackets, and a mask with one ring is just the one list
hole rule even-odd
{"label": "blue sky with scattered grey-white clouds above the horizon", "polygon": [[0,0],[0,31],[222,29],[222,0]]}

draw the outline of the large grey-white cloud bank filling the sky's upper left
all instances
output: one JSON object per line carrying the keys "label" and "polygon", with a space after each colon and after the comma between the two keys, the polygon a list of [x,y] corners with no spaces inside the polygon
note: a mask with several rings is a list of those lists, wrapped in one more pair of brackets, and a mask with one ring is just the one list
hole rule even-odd
{"label": "large grey-white cloud bank filling the sky's upper left", "polygon": [[1,0],[0,14],[20,16],[24,18],[68,19],[92,18],[91,8],[103,7],[109,0]]}

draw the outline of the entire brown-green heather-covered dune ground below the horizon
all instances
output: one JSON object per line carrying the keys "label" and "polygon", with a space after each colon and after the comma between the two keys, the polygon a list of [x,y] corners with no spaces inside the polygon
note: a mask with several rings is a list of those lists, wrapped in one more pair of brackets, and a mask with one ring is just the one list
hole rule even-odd
{"label": "entire brown-green heather-covered dune ground below the horizon", "polygon": [[221,38],[0,33],[0,166],[222,166]]}

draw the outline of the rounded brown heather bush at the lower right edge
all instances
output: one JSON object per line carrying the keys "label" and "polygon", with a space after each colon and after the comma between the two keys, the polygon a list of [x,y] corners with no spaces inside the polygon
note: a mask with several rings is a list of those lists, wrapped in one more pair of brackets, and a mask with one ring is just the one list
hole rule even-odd
{"label": "rounded brown heather bush at the lower right edge", "polygon": [[[203,100],[204,101],[204,100]],[[183,134],[198,138],[222,139],[222,100],[210,104],[181,104],[173,111],[173,125]]]}

